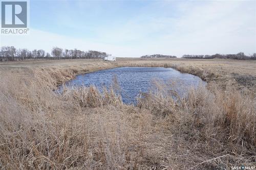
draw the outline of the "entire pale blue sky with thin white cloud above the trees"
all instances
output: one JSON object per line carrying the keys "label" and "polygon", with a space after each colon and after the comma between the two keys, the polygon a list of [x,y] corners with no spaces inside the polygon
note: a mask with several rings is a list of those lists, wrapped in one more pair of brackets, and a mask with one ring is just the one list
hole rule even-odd
{"label": "entire pale blue sky with thin white cloud above the trees", "polygon": [[256,53],[255,1],[30,1],[30,34],[1,46],[146,54]]}

